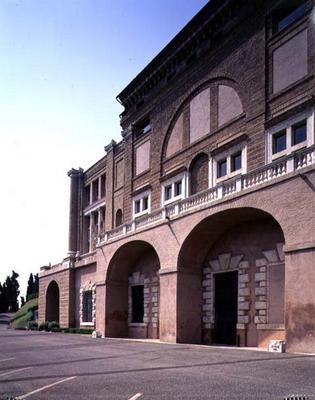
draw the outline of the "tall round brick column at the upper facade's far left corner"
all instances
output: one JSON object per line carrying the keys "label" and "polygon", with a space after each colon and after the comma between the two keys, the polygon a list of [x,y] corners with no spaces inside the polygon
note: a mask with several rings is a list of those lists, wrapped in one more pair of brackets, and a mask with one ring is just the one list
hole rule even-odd
{"label": "tall round brick column at the upper facade's far left corner", "polygon": [[68,254],[75,255],[79,250],[79,218],[80,218],[80,204],[81,204],[81,190],[82,190],[82,177],[83,169],[72,168],[68,172],[70,177],[70,207],[69,207],[69,244]]}

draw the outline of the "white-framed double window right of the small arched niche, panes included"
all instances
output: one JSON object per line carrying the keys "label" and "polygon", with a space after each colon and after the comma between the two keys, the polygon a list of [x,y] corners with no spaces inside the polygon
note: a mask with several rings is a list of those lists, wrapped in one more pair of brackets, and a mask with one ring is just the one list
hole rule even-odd
{"label": "white-framed double window right of the small arched niche, panes included", "polygon": [[213,187],[221,181],[232,178],[238,174],[246,173],[246,145],[240,143],[231,148],[215,154],[210,159],[210,186]]}

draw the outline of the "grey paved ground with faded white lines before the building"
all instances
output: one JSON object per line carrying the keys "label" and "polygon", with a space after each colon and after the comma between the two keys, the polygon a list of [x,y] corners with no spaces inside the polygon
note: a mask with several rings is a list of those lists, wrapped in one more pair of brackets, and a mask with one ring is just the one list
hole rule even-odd
{"label": "grey paved ground with faded white lines before the building", "polygon": [[0,331],[0,399],[266,400],[290,394],[315,394],[314,356]]}

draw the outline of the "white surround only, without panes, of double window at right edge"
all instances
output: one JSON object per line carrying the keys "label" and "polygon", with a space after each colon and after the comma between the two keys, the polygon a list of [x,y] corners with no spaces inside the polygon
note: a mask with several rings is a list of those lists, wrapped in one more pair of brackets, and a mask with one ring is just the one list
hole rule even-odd
{"label": "white surround only, without panes, of double window at right edge", "polygon": [[[306,140],[296,145],[292,144],[293,127],[306,120]],[[286,132],[286,149],[272,154],[273,137],[281,131]],[[279,157],[287,156],[292,152],[303,147],[309,147],[314,144],[314,109],[306,110],[291,117],[280,124],[273,126],[266,131],[266,164],[271,163]]]}

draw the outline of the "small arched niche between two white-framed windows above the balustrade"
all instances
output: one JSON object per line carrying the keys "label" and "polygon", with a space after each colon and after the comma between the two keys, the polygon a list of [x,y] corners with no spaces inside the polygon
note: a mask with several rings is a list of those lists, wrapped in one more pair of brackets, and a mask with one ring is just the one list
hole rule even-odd
{"label": "small arched niche between two white-framed windows above the balustrade", "polygon": [[199,154],[192,161],[189,168],[190,194],[196,194],[209,187],[209,160],[204,153]]}

